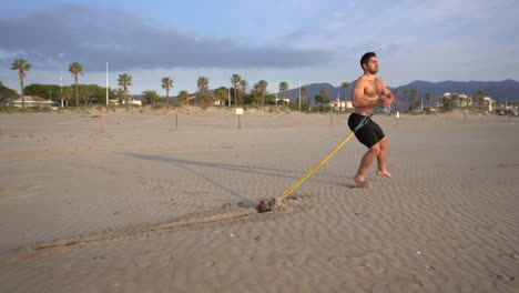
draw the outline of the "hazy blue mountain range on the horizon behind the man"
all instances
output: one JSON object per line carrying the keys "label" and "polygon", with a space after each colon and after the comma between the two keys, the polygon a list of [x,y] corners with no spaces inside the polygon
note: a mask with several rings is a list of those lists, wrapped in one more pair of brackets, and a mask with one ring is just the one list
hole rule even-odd
{"label": "hazy blue mountain range on the horizon behind the man", "polygon": [[[352,89],[355,85],[355,81],[349,82],[347,90],[339,87],[334,87],[329,83],[311,83],[304,84],[307,89],[306,97],[314,102],[314,97],[319,94],[322,89],[328,90],[328,97],[330,100],[340,97],[340,100],[352,99]],[[404,98],[404,92],[411,90],[418,90],[419,98],[425,98],[427,93],[432,97],[442,97],[445,92],[477,95],[481,91],[486,97],[490,97],[499,101],[519,102],[519,82],[516,80],[507,79],[503,81],[441,81],[441,82],[428,82],[416,80],[408,84],[391,88],[393,91],[396,89],[400,90],[399,99]],[[286,98],[296,102],[299,97],[299,88],[293,88],[286,92]]]}

